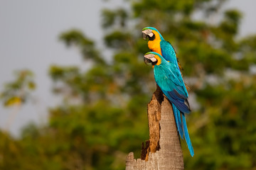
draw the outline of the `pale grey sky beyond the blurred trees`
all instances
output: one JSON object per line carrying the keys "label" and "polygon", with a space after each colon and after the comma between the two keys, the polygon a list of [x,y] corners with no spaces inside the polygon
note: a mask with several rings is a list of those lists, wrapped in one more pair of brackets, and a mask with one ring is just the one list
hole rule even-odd
{"label": "pale grey sky beyond the blurred trees", "polygon": [[[82,65],[78,50],[67,49],[58,35],[72,28],[101,42],[101,9],[122,6],[121,0],[0,0],[0,91],[14,79],[14,70],[31,69],[36,75],[35,103],[18,111],[11,134],[17,136],[28,122],[47,123],[47,108],[56,106],[48,77],[50,64]],[[238,8],[243,13],[240,37],[256,33],[256,1],[230,0],[225,8]],[[140,31],[140,30],[139,30]],[[102,47],[102,44],[100,44]],[[0,128],[4,128],[13,108],[0,106]]]}

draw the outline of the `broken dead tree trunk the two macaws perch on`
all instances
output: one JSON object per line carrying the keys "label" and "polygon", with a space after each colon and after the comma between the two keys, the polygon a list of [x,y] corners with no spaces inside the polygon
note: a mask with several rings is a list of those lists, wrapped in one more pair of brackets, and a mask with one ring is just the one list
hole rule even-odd
{"label": "broken dead tree trunk the two macaws perch on", "polygon": [[142,158],[127,156],[126,170],[184,169],[181,143],[171,103],[157,86],[148,104],[149,141],[142,144]]}

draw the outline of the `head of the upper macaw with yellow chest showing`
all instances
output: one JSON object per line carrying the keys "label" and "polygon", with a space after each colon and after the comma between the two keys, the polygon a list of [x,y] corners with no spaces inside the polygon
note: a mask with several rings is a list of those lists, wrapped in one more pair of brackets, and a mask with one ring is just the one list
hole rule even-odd
{"label": "head of the upper macaw with yellow chest showing", "polygon": [[149,38],[149,40],[164,40],[161,33],[153,27],[143,28],[142,37],[144,40],[146,40],[146,38]]}

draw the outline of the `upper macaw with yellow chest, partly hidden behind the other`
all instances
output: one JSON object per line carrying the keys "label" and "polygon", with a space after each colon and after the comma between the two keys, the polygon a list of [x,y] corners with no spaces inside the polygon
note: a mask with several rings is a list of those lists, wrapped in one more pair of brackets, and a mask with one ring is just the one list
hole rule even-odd
{"label": "upper macaw with yellow chest, partly hidden behind the other", "polygon": [[161,33],[159,33],[156,28],[146,27],[142,29],[142,36],[144,40],[149,38],[148,46],[152,52],[157,52],[159,55],[163,56],[166,61],[173,62],[176,64],[178,70],[180,70],[181,65],[178,63],[178,59],[176,57],[176,52],[174,47],[170,42],[164,40]]}

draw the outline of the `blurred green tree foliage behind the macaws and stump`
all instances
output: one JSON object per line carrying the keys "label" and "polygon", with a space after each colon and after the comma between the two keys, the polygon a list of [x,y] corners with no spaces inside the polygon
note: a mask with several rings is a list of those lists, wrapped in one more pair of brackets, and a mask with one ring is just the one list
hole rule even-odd
{"label": "blurred green tree foliage behind the macaws and stump", "polygon": [[28,69],[6,82],[1,102],[13,110],[0,131],[0,169],[124,169],[129,152],[139,157],[156,86],[143,62],[146,26],[175,47],[190,87],[195,156],[182,142],[185,169],[256,169],[256,35],[238,37],[242,13],[223,10],[225,2],[137,0],[102,9],[102,48],[79,29],[60,33],[84,62],[49,66],[61,102],[48,108],[47,123],[30,123],[19,137],[8,130],[40,84]]}

